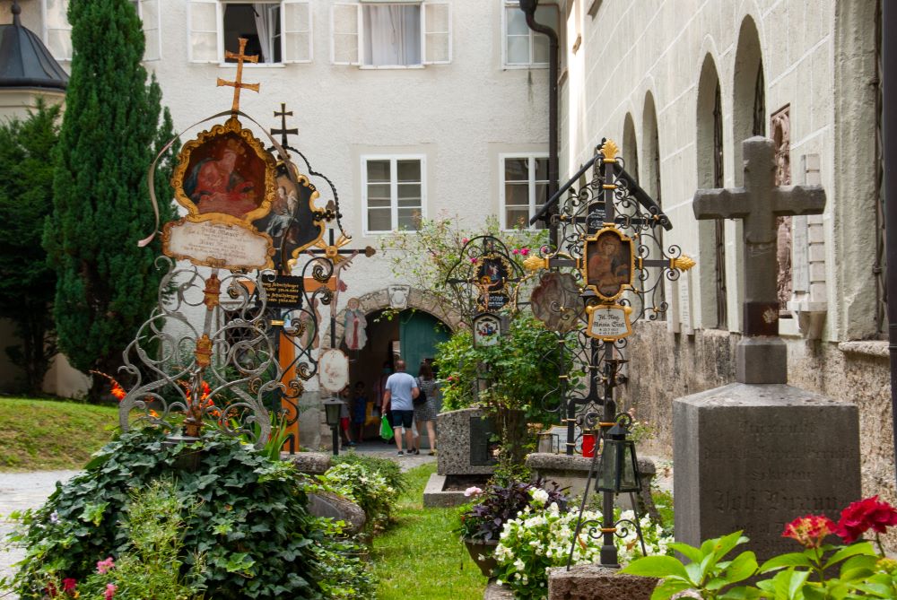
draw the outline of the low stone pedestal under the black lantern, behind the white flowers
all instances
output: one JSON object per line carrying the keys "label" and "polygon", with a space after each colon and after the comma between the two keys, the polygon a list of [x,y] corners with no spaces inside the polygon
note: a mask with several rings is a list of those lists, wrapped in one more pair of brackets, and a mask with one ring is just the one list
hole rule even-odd
{"label": "low stone pedestal under the black lantern, behind the white flowers", "polygon": [[620,575],[598,565],[548,570],[548,600],[650,600],[658,579]]}

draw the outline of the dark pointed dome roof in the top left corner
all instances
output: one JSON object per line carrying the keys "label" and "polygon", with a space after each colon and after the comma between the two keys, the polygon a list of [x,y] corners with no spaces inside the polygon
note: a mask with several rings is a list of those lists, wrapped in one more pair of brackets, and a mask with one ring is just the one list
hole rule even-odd
{"label": "dark pointed dome roof in the top left corner", "polygon": [[33,31],[22,27],[22,8],[13,2],[13,23],[0,25],[0,89],[62,90],[68,74]]}

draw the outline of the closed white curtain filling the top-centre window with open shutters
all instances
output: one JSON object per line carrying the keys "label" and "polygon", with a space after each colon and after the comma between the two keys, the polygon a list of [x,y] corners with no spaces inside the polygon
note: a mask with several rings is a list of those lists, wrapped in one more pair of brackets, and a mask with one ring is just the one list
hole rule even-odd
{"label": "closed white curtain filling the top-centre window with open shutters", "polygon": [[421,64],[421,7],[364,7],[364,64]]}

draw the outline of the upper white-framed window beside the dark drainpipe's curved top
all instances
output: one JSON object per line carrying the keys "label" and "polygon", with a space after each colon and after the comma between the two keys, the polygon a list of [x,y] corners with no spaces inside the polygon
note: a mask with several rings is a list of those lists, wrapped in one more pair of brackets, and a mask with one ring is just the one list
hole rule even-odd
{"label": "upper white-framed window beside the dark drainpipe's curved top", "polygon": [[[502,63],[512,67],[548,66],[548,36],[529,29],[527,15],[520,10],[517,0],[503,0]],[[543,4],[536,7],[536,22],[558,30],[558,7]]]}

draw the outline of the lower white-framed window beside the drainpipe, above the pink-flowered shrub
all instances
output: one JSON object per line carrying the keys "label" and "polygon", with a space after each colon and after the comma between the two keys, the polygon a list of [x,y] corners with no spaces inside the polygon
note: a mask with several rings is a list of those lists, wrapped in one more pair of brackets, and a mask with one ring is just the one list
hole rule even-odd
{"label": "lower white-framed window beside the drainpipe, above the pink-flowered shrub", "polygon": [[[528,228],[548,199],[548,154],[502,154],[500,163],[501,229]],[[544,223],[536,228],[544,228]]]}

